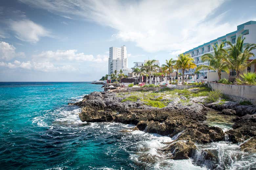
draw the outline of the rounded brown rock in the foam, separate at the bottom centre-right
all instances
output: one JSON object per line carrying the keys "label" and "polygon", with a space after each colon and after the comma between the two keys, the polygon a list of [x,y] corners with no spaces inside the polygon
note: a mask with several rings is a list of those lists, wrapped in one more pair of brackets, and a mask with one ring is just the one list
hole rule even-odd
{"label": "rounded brown rock in the foam, separate at the bottom centre-right", "polygon": [[192,141],[175,141],[168,147],[163,148],[165,154],[170,155],[174,160],[189,159],[194,154],[197,147]]}

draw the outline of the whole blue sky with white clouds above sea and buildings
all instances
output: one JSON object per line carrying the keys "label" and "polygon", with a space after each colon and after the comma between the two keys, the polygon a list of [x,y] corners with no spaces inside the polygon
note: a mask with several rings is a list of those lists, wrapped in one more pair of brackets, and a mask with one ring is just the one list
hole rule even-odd
{"label": "whole blue sky with white clouds above sea and buildings", "polygon": [[178,54],[256,21],[255,0],[1,0],[0,81],[94,81],[109,47],[128,67]]}

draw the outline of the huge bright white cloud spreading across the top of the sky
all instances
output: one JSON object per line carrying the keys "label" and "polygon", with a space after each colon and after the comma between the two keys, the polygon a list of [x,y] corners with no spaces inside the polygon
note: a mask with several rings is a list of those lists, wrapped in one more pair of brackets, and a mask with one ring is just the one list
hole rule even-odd
{"label": "huge bright white cloud spreading across the top of the sky", "polygon": [[176,51],[175,55],[232,32],[237,24],[220,22],[225,14],[207,18],[224,0],[21,1],[62,16],[78,16],[110,26],[117,30],[113,38],[133,41],[147,52]]}

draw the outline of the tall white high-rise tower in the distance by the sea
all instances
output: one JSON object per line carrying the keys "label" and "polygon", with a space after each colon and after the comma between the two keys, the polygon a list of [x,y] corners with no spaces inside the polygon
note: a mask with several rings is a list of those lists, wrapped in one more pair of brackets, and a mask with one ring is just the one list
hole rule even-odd
{"label": "tall white high-rise tower in the distance by the sea", "polygon": [[114,73],[114,71],[123,70],[123,73],[128,74],[128,59],[127,59],[127,51],[126,46],[118,47],[110,47],[109,48],[109,59],[108,59],[108,74]]}

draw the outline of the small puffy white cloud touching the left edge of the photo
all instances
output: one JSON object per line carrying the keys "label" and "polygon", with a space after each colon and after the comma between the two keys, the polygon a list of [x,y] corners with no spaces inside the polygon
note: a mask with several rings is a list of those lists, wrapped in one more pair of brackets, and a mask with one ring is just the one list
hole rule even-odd
{"label": "small puffy white cloud touching the left edge of the photo", "polygon": [[7,42],[0,42],[0,59],[10,60],[16,56],[24,57],[25,54],[23,52],[16,53],[15,47]]}

